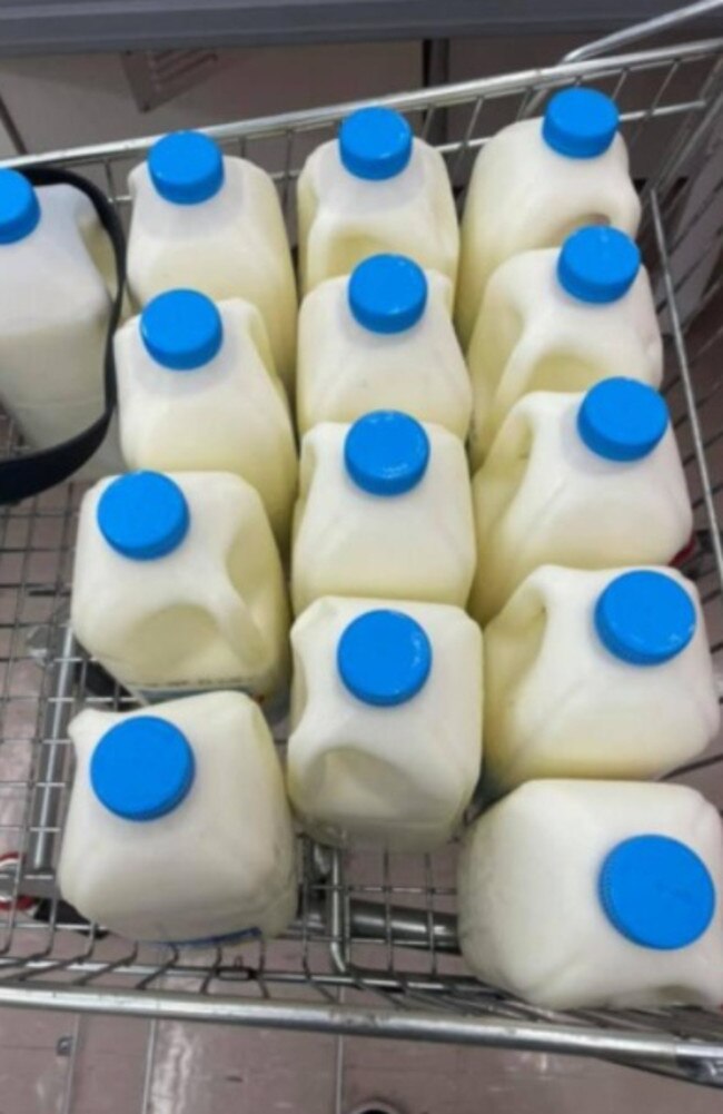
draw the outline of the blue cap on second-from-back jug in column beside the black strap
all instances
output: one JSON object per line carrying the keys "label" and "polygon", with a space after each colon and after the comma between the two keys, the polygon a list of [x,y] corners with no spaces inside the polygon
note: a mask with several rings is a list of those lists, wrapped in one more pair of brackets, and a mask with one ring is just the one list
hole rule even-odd
{"label": "blue cap on second-from-back jug in column beside the black strap", "polygon": [[224,326],[216,304],[205,294],[169,290],[148,302],[140,314],[140,336],[164,368],[193,371],[218,353]]}

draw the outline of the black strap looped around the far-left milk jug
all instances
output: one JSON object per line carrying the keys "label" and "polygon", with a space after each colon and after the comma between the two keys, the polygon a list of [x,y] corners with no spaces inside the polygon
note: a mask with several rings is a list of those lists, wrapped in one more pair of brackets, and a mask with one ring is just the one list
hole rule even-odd
{"label": "black strap looped around the far-left milk jug", "polygon": [[123,296],[126,285],[126,241],[118,215],[102,193],[92,183],[81,178],[70,170],[60,170],[50,166],[22,167],[21,173],[33,186],[68,185],[79,189],[92,203],[100,224],[108,233],[116,262],[116,296],[108,319],[108,333],[104,355],[105,370],[105,409],[100,417],[77,433],[69,441],[56,444],[51,449],[23,453],[9,460],[0,461],[0,504],[18,502],[30,496],[46,491],[67,480],[98,449],[108,432],[110,419],[116,407],[116,361],[114,356],[114,333],[120,320]]}

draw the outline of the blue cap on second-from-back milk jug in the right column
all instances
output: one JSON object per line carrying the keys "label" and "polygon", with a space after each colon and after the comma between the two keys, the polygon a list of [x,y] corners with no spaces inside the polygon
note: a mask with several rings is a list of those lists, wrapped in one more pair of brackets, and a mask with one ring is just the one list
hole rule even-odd
{"label": "blue cap on second-from-back milk jug in the right column", "polygon": [[593,224],[567,237],[557,257],[557,280],[578,302],[608,305],[627,294],[641,270],[641,251],[618,228]]}

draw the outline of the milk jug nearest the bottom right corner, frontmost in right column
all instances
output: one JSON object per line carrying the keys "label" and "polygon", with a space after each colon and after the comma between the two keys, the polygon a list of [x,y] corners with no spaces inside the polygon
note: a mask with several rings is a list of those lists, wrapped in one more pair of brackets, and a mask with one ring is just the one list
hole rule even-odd
{"label": "milk jug nearest the bottom right corner, frontmost in right column", "polygon": [[465,840],[462,955],[546,1009],[715,1008],[721,836],[716,809],[684,785],[528,782]]}

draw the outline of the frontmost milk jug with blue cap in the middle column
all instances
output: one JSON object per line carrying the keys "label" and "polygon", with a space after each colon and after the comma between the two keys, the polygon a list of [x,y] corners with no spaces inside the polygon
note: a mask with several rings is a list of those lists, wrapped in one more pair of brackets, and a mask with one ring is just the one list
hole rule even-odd
{"label": "frontmost milk jug with blue cap in the middle column", "polygon": [[289,792],[323,842],[427,851],[481,759],[482,644],[457,607],[316,600],[292,629]]}

